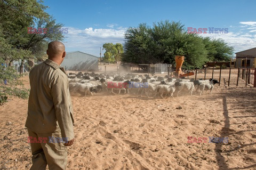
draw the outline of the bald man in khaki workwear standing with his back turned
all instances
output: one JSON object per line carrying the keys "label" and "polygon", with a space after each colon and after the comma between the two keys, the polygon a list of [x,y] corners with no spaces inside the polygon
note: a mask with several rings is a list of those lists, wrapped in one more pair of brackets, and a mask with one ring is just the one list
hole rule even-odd
{"label": "bald man in khaki workwear standing with his back turned", "polygon": [[48,59],[31,69],[28,100],[28,142],[31,144],[31,170],[66,169],[67,147],[74,142],[73,109],[68,77],[60,67],[65,58],[61,42],[49,43]]}

